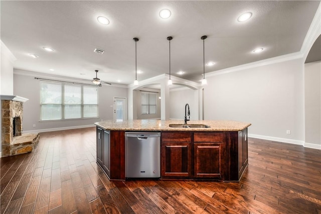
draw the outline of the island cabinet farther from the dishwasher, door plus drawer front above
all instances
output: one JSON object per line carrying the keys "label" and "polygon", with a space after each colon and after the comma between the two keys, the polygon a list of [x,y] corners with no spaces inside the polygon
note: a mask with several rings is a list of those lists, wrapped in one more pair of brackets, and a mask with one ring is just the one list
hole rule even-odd
{"label": "island cabinet farther from the dishwasher, door plus drawer front above", "polygon": [[194,133],[194,177],[225,178],[226,144],[223,132]]}

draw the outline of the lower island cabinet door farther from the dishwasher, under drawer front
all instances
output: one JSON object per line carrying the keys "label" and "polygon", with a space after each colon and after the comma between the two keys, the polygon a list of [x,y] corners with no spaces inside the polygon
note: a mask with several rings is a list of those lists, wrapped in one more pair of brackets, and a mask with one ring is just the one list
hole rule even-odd
{"label": "lower island cabinet door farther from the dishwasher, under drawer front", "polygon": [[194,176],[224,178],[226,144],[194,142]]}

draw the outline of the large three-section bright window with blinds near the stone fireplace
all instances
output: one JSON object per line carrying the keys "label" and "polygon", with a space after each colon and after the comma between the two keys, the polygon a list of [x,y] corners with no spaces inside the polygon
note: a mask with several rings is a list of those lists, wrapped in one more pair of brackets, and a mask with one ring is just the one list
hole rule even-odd
{"label": "large three-section bright window with blinds near the stone fireplace", "polygon": [[41,121],[98,117],[98,89],[40,82]]}

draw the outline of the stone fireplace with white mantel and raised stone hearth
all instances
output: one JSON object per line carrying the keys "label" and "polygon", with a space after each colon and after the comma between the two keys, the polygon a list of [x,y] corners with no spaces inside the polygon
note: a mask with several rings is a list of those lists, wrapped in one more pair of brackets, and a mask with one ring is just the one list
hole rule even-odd
{"label": "stone fireplace with white mantel and raised stone hearth", "polygon": [[1,95],[2,157],[32,152],[39,142],[39,133],[22,134],[23,103],[20,96]]}

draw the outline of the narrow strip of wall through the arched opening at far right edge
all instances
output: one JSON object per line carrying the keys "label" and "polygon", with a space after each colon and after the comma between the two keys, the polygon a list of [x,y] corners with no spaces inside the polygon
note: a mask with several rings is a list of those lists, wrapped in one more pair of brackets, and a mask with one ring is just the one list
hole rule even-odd
{"label": "narrow strip of wall through the arched opening at far right edge", "polygon": [[304,64],[304,82],[305,144],[321,149],[321,61]]}

